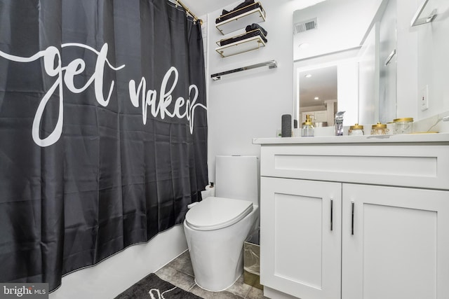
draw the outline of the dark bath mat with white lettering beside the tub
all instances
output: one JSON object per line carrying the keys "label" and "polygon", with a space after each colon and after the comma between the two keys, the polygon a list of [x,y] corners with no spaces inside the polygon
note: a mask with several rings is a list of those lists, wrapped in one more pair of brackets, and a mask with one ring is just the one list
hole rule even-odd
{"label": "dark bath mat with white lettering beside the tub", "polygon": [[160,279],[151,273],[133,284],[115,299],[202,299],[201,297],[173,286],[170,282]]}

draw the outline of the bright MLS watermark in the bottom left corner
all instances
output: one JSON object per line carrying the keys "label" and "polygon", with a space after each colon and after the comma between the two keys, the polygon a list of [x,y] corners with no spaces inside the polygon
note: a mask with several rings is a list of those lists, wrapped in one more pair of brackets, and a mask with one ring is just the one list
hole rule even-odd
{"label": "bright MLS watermark in the bottom left corner", "polygon": [[0,299],[48,299],[48,284],[0,284]]}

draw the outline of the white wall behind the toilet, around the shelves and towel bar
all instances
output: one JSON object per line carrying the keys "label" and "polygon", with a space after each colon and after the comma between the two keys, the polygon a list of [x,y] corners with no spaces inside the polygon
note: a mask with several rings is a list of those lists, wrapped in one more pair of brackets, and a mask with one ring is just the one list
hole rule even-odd
{"label": "white wall behind the toilet, around the shelves and towel bar", "polygon": [[[319,0],[261,1],[267,21],[260,25],[267,30],[267,46],[231,57],[215,53],[222,36],[215,28],[221,9],[208,14],[208,164],[210,181],[215,180],[215,155],[260,155],[260,146],[253,137],[275,137],[281,128],[282,114],[293,114],[293,11]],[[232,9],[241,1],[224,7]],[[223,76],[212,81],[210,74],[276,60],[276,69],[263,68]]]}

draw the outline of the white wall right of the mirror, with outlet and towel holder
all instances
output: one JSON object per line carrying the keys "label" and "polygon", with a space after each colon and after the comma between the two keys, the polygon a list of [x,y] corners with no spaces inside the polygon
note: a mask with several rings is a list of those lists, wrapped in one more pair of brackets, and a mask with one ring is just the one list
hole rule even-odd
{"label": "white wall right of the mirror, with outlet and towel holder", "polygon": [[[449,1],[429,1],[437,17],[429,24],[410,27],[422,1],[397,0],[397,111],[415,120],[449,110]],[[420,90],[429,85],[429,109],[418,106]]]}

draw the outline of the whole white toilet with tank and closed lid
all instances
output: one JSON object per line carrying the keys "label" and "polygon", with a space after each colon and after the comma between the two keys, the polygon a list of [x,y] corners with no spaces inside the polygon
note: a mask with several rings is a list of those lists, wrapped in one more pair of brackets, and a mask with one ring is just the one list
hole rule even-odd
{"label": "whole white toilet with tank and closed lid", "polygon": [[215,157],[214,188],[187,211],[184,230],[196,284],[222,291],[241,276],[243,242],[259,225],[257,157]]}

